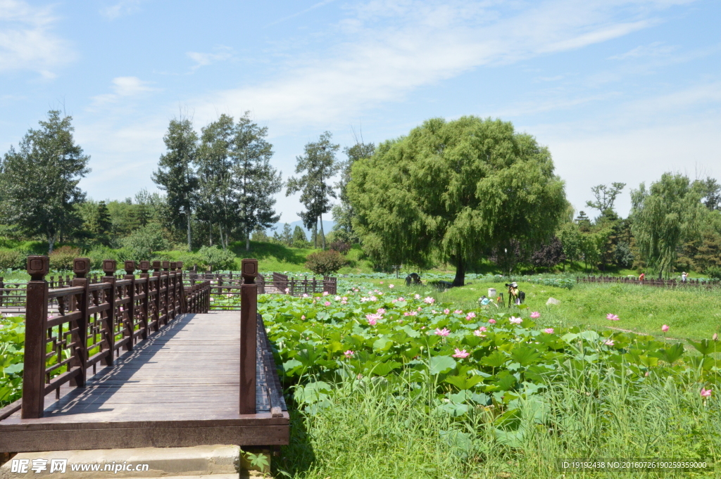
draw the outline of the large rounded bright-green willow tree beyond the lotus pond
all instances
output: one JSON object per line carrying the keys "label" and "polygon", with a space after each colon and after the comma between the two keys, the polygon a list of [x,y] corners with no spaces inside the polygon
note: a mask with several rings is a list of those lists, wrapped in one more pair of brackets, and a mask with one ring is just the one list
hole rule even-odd
{"label": "large rounded bright-green willow tree beyond the lotus pond", "polygon": [[551,154],[510,122],[435,118],[355,162],[353,228],[381,264],[454,264],[454,285],[492,249],[552,236],[565,211]]}

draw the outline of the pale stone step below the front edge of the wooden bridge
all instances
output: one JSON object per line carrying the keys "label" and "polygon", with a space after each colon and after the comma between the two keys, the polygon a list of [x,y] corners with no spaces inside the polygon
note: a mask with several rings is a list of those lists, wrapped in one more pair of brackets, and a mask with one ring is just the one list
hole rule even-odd
{"label": "pale stone step below the front edge of the wooden bridge", "polygon": [[[33,463],[33,460],[41,460]],[[45,462],[43,463],[44,460]],[[53,466],[52,460],[65,460],[65,471]],[[25,464],[23,464],[25,463]],[[93,470],[72,470],[72,465],[97,465]],[[22,467],[24,471],[13,471]],[[45,466],[38,473],[35,465]],[[132,465],[128,470],[128,465]],[[135,470],[137,465],[143,465]],[[147,466],[144,466],[147,465]],[[106,469],[108,467],[108,469]],[[123,470],[125,469],[125,470]],[[142,447],[138,449],[94,449],[84,451],[21,452],[0,467],[0,479],[105,479],[105,478],[182,478],[208,479],[238,478],[241,470],[240,448],[215,445],[195,447]],[[247,477],[247,476],[246,476]]]}

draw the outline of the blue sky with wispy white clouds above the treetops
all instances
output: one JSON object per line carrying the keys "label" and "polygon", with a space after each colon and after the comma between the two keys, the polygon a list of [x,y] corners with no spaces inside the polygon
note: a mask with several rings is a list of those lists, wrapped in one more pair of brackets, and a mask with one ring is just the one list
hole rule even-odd
{"label": "blue sky with wispy white clouds above the treetops", "polygon": [[0,0],[0,152],[64,109],[81,187],[123,199],[155,189],[181,112],[200,130],[250,111],[286,178],[324,130],[350,146],[490,116],[549,147],[580,210],[595,184],[721,177],[719,19],[711,0]]}

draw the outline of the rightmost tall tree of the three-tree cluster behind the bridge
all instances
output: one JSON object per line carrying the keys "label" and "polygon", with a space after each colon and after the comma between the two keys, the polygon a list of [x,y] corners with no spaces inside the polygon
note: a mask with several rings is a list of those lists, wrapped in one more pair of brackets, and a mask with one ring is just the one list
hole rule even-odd
{"label": "rightmost tall tree of the three-tree cluster behind the bridge", "polygon": [[250,250],[250,233],[269,228],[280,220],[273,207],[275,195],[283,188],[280,172],[270,165],[273,145],[265,140],[267,127],[252,122],[249,112],[238,119],[234,136],[234,189],[238,205],[238,224]]}

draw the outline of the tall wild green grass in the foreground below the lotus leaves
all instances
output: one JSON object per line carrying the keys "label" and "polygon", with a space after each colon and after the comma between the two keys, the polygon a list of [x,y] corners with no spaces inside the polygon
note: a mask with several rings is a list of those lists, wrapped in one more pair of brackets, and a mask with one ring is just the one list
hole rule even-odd
{"label": "tall wild green grass in the foreground below the lotus leaves", "polygon": [[[691,382],[675,385],[658,379],[632,391],[627,383],[588,370],[543,393],[544,407],[526,403],[512,424],[480,406],[463,419],[429,413],[427,400],[411,390],[345,380],[324,407],[308,412],[291,408],[291,444],[273,467],[276,478],[298,479],[581,479],[611,475],[563,476],[554,470],[554,461],[715,461],[721,452],[720,404],[717,398],[704,402],[697,389]],[[719,477],[713,470],[632,474]]]}

